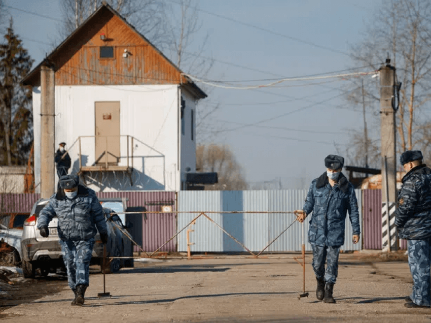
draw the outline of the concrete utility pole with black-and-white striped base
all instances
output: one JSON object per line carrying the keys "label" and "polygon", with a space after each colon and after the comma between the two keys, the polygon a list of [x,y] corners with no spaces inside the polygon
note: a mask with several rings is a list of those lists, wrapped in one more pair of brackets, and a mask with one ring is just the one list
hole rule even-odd
{"label": "concrete utility pole with black-and-white striped base", "polygon": [[397,161],[394,101],[394,79],[396,69],[386,59],[379,69],[380,76],[380,127],[382,157],[382,250],[397,250],[397,228],[395,211],[397,201]]}

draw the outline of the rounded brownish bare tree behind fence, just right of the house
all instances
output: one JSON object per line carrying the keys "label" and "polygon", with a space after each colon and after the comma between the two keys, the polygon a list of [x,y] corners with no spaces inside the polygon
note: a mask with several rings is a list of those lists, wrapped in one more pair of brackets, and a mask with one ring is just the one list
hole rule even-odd
{"label": "rounded brownish bare tree behind fence, just right of the house", "polygon": [[206,190],[247,189],[242,168],[226,145],[198,145],[196,147],[196,169],[218,174],[219,182],[205,185]]}

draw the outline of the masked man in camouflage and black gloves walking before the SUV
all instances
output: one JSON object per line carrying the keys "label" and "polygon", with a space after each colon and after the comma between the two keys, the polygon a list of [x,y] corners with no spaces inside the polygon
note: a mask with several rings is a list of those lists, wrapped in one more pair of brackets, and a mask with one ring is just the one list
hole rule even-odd
{"label": "masked man in camouflage and black gloves walking before the SUV", "polygon": [[78,175],[65,175],[60,177],[57,193],[39,215],[38,229],[42,237],[49,236],[48,223],[54,216],[58,217],[57,230],[67,282],[75,293],[71,305],[82,306],[89,285],[90,260],[97,230],[104,244],[108,240],[103,209],[94,190],[81,185]]}

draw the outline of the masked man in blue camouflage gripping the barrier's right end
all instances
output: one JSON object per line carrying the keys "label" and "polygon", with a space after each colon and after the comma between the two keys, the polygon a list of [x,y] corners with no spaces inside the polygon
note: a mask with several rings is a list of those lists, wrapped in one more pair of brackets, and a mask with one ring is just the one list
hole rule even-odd
{"label": "masked man in blue camouflage gripping the barrier's right end", "polygon": [[338,255],[344,244],[347,211],[353,228],[353,243],[359,241],[361,234],[354,187],[341,173],[343,165],[343,157],[328,155],[325,158],[327,171],[311,182],[304,207],[295,211],[301,223],[313,212],[308,241],[313,250],[316,298],[325,303],[335,303],[333,288],[338,275]]}

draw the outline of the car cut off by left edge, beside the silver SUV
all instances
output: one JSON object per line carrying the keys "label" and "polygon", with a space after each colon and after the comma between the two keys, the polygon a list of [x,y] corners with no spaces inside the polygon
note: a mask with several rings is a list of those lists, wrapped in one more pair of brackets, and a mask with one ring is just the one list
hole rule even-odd
{"label": "car cut off by left edge, beside the silver SUV", "polygon": [[0,214],[0,242],[5,242],[8,252],[0,252],[0,265],[19,266],[21,263],[22,227],[28,213]]}

